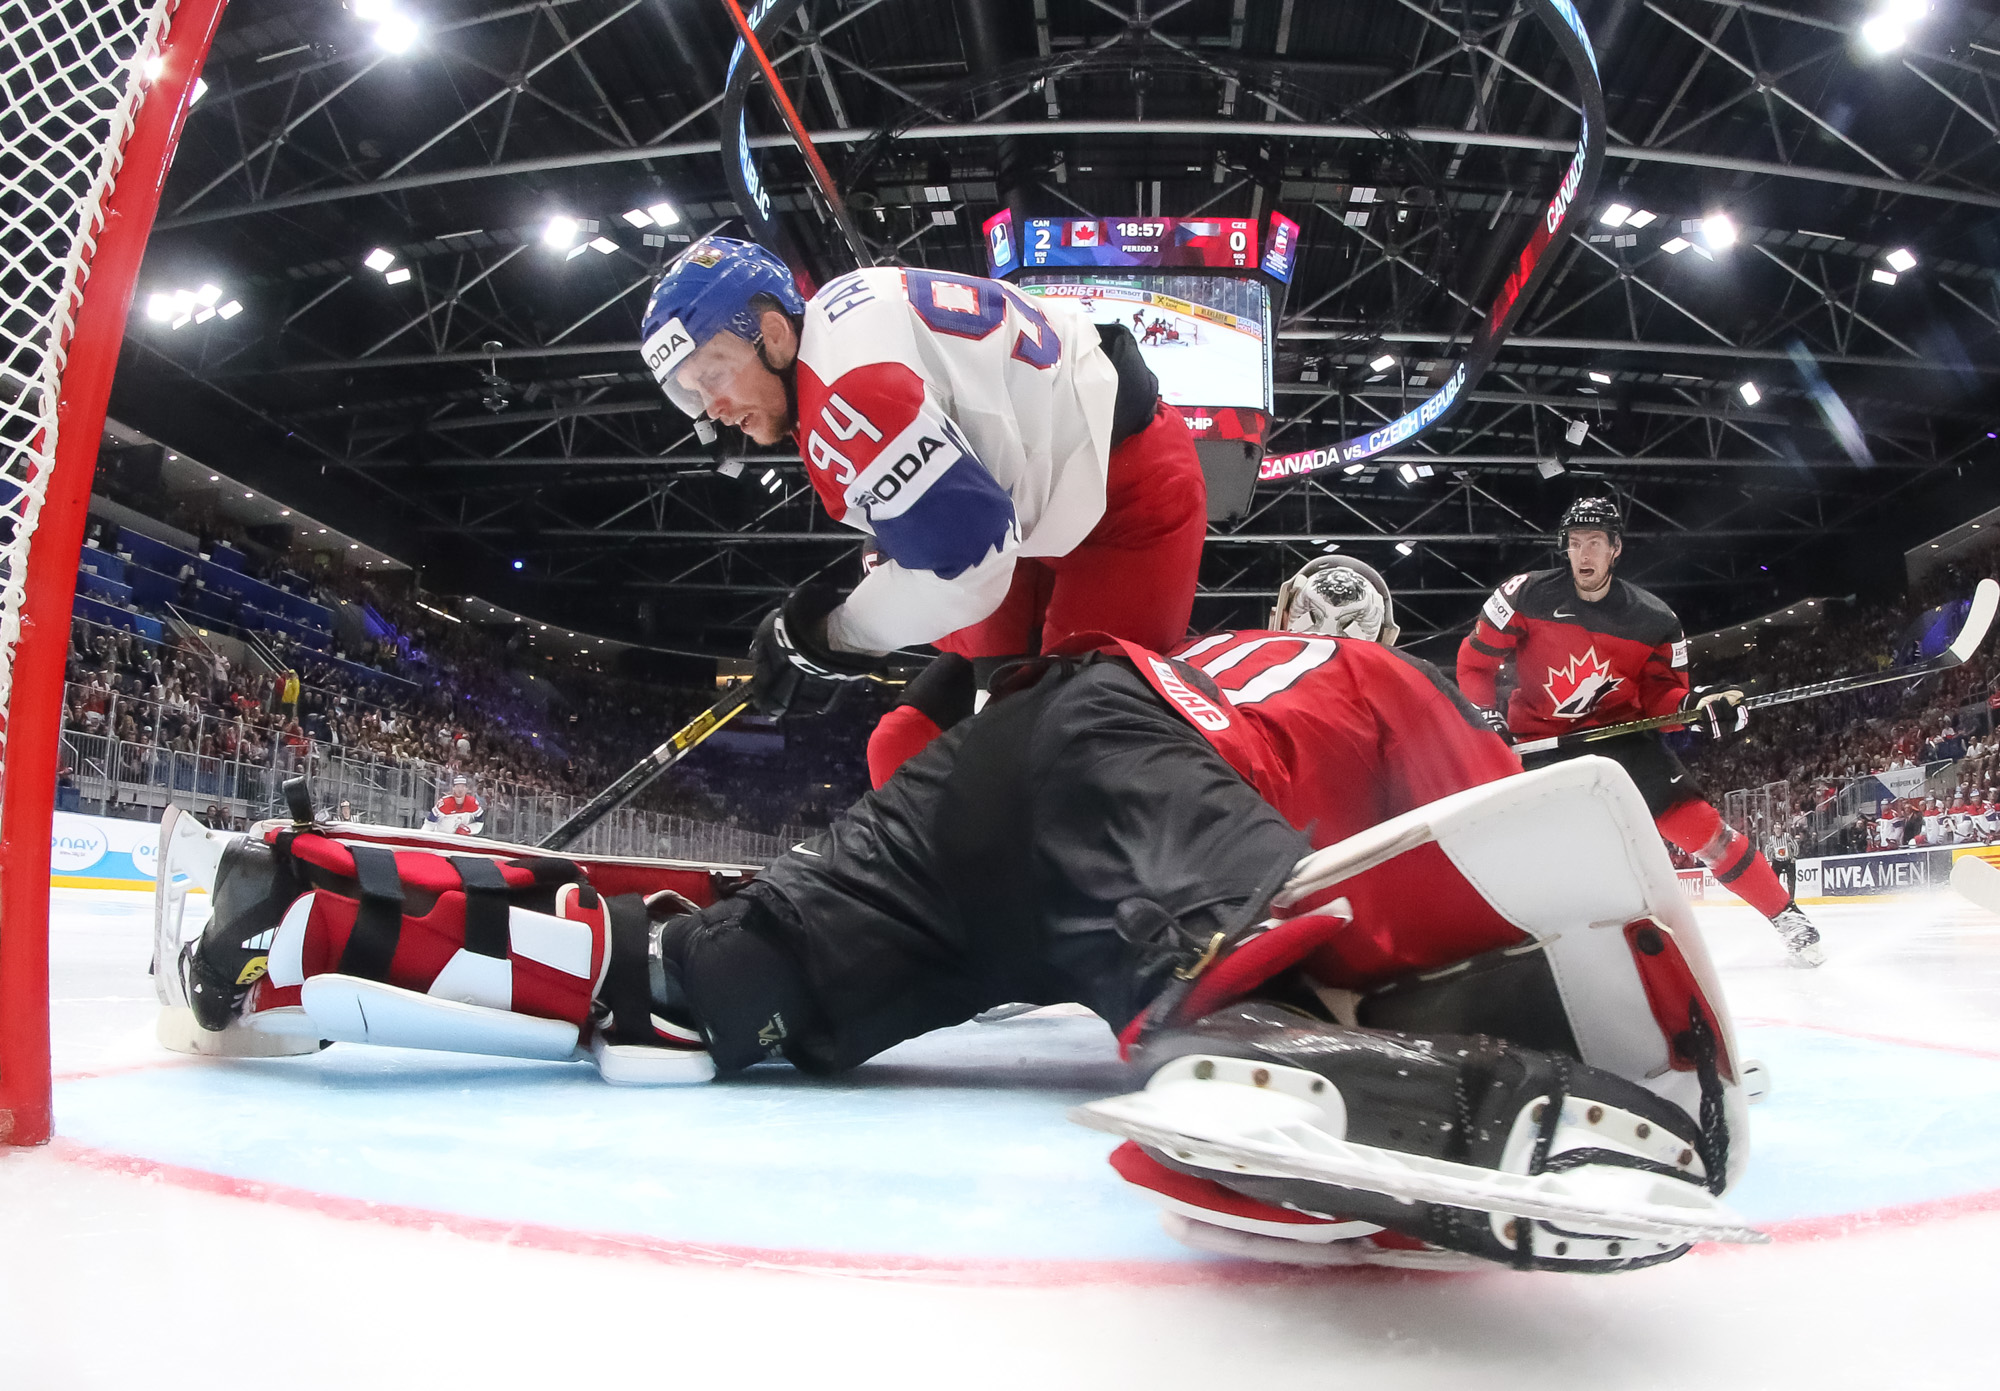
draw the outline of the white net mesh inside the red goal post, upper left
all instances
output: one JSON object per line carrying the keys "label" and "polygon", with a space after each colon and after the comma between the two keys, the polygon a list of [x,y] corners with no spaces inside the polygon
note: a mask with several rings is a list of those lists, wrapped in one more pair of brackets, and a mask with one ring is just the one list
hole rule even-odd
{"label": "white net mesh inside the red goal post, upper left", "polygon": [[174,2],[0,0],[0,817],[22,584],[56,464],[62,370]]}

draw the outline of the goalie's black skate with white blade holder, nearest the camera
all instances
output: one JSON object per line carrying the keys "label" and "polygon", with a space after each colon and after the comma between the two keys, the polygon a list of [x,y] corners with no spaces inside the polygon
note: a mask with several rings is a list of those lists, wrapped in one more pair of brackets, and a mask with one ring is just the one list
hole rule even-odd
{"label": "goalie's black skate with white blade holder, nearest the camera", "polygon": [[[1244,1003],[1148,1037],[1138,1061],[1150,1073],[1144,1093],[1084,1107],[1078,1119],[1134,1135],[1156,1163],[1266,1209],[1368,1221],[1446,1251],[1570,1271],[1622,1271],[1682,1255],[1690,1237],[1676,1239],[1662,1211],[1684,1207],[1690,1229],[1714,1219],[1704,1235],[1724,1235],[1734,1223],[1708,1199],[1708,1175],[1722,1165],[1686,1111],[1560,1053],[1480,1035],[1344,1027]],[[1418,1185],[1370,1187],[1366,1163],[1352,1183],[1334,1183],[1300,1177],[1278,1159],[1260,1163],[1256,1153],[1230,1157],[1226,1141],[1266,1141],[1284,1129],[1310,1129],[1336,1141],[1328,1149],[1386,1159],[1384,1173],[1416,1175]],[[1178,1143],[1176,1131],[1190,1143]],[[1462,1183],[1480,1171],[1574,1179],[1582,1207],[1558,1203],[1546,1211],[1568,1215],[1550,1219],[1508,1211],[1504,1197],[1488,1199],[1476,1181],[1424,1187],[1432,1173]],[[1466,1201],[1448,1201],[1460,1191]],[[1412,1201],[1410,1193],[1432,1197]],[[1632,1211],[1620,1217],[1622,1197]],[[1606,1223],[1580,1225],[1586,1209],[1604,1209]],[[1200,1219],[1262,1231],[1214,1213]]]}

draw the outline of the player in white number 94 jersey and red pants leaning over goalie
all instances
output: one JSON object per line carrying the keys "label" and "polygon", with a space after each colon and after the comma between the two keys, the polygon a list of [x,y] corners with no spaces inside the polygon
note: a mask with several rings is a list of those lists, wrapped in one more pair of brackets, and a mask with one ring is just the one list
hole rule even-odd
{"label": "player in white number 94 jersey and red pants leaning over goalie", "polygon": [[764,622],[766,707],[788,697],[786,666],[838,680],[926,642],[998,658],[1186,634],[1202,468],[1122,326],[902,266],[808,304],[770,252],[704,238],[660,278],[644,332],[676,406],[758,444],[794,436],[826,512],[882,558],[844,602],[800,592]]}

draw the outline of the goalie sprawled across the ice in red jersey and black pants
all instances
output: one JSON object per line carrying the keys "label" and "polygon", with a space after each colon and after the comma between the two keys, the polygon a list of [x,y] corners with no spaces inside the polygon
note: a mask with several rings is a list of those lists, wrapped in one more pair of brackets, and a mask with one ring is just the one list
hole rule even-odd
{"label": "goalie sprawled across the ice in red jersey and black pants", "polygon": [[1080,1119],[1194,1245],[1618,1271],[1754,1239],[1716,1201],[1728,1017],[1614,765],[1522,777],[1434,670],[1318,634],[1038,660],[946,723],[724,897],[270,827],[206,931],[162,927],[166,1019],[198,1051],[582,1043],[706,1079],[1082,1001],[1146,1085]]}

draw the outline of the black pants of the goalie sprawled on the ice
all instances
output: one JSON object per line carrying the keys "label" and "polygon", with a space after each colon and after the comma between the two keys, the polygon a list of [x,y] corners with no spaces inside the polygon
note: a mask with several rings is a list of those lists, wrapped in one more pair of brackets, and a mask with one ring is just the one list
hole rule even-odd
{"label": "black pants of the goalie sprawled on the ice", "polygon": [[1124,662],[1052,666],[668,929],[722,1071],[838,1071],[1010,1001],[1122,1029],[1308,849]]}

